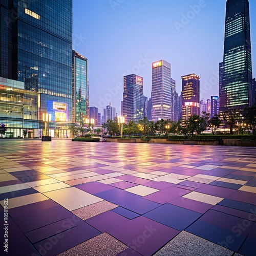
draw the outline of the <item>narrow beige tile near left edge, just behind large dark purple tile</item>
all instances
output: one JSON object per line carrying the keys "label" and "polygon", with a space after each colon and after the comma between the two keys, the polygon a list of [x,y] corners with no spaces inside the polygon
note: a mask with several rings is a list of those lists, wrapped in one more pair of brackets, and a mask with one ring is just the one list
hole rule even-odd
{"label": "narrow beige tile near left edge, just behind large dark purple tile", "polygon": [[[8,209],[27,205],[27,204],[33,204],[41,201],[48,200],[46,196],[42,195],[41,193],[35,193],[27,196],[22,196],[22,197],[15,197],[15,198],[10,198],[8,200]],[[0,204],[3,206],[4,201],[1,201]]]}

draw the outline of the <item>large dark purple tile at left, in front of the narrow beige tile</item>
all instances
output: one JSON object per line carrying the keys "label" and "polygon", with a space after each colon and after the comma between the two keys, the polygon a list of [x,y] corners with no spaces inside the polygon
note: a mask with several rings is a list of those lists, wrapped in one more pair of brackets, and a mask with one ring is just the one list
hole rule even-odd
{"label": "large dark purple tile at left, in front of the narrow beige tile", "polygon": [[70,211],[52,200],[12,208],[8,212],[23,232],[49,225],[72,215]]}

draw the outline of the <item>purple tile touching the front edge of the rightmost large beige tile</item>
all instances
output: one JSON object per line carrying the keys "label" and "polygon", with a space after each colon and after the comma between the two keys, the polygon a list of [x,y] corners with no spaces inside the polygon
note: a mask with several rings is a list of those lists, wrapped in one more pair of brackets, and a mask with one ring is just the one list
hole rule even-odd
{"label": "purple tile touching the front edge of the rightmost large beige tile", "polygon": [[175,198],[169,201],[168,203],[186,208],[188,210],[197,211],[200,214],[204,214],[207,210],[209,210],[212,207],[211,204],[202,203],[184,197]]}

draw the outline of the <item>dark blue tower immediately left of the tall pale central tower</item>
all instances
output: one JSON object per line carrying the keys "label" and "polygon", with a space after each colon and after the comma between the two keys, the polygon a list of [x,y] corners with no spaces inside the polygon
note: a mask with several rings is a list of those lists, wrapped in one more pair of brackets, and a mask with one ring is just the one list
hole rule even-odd
{"label": "dark blue tower immediately left of the tall pale central tower", "polygon": [[143,77],[135,74],[124,76],[122,115],[125,123],[142,119],[143,97]]}

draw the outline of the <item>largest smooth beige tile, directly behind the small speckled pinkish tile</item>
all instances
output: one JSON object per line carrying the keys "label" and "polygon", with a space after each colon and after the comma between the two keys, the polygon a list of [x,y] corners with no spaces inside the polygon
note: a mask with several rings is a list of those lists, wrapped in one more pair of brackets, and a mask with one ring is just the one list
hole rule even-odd
{"label": "largest smooth beige tile, directly behind the small speckled pinkish tile", "polygon": [[76,187],[54,190],[51,192],[46,192],[44,195],[68,210],[76,210],[84,206],[103,201],[103,199],[93,196]]}

